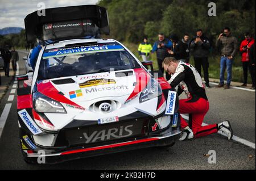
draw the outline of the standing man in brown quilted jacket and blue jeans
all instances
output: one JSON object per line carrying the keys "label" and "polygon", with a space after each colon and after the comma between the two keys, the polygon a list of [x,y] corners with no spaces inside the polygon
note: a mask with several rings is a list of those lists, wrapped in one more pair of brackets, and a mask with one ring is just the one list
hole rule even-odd
{"label": "standing man in brown quilted jacket and blue jeans", "polygon": [[217,87],[224,87],[224,73],[226,69],[228,77],[226,78],[226,85],[224,89],[230,89],[232,79],[232,64],[238,47],[237,39],[236,37],[232,36],[230,28],[224,28],[224,32],[218,36],[216,47],[220,48],[221,50],[220,83]]}

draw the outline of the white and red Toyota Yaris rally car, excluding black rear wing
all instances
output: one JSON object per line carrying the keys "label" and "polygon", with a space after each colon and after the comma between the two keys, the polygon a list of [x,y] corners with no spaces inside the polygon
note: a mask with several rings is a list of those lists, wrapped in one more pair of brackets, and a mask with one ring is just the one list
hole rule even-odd
{"label": "white and red Toyota Yaris rally car, excluding black rear wing", "polygon": [[[57,163],[172,146],[181,134],[178,96],[154,72],[151,61],[141,63],[113,39],[45,44],[17,93],[24,160]],[[28,75],[17,79],[20,85]]]}

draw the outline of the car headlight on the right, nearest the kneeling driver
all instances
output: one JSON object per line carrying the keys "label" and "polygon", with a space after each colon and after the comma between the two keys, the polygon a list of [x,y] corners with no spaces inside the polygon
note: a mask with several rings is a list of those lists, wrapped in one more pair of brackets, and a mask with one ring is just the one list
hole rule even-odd
{"label": "car headlight on the right, nearest the kneeling driver", "polygon": [[162,95],[162,89],[159,83],[154,78],[151,78],[150,82],[148,82],[145,89],[141,92],[139,103],[143,103],[147,100],[154,99],[159,95]]}

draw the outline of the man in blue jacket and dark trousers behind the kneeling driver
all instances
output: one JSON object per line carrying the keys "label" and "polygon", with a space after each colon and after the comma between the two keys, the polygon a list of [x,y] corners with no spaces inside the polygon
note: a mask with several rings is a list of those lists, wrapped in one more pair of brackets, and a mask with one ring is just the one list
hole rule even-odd
{"label": "man in blue jacket and dark trousers behind the kneeling driver", "polygon": [[[162,62],[164,58],[169,56],[169,53],[167,52],[168,49],[171,49],[172,42],[168,39],[166,39],[163,35],[163,33],[159,33],[158,35],[158,41],[156,41],[152,48],[152,53],[156,52],[156,58],[158,61],[158,68],[159,70],[164,73],[164,69],[162,68]],[[167,81],[171,78],[171,75],[166,74]]]}

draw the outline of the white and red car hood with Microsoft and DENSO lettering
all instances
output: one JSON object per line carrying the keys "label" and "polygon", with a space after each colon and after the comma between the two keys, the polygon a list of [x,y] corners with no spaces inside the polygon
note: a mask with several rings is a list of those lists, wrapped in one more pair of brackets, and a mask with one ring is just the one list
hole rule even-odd
{"label": "white and red car hood with Microsoft and DENSO lettering", "polygon": [[47,79],[38,81],[37,87],[53,100],[84,107],[101,98],[122,97],[124,103],[141,92],[149,79],[144,69],[131,69]]}

